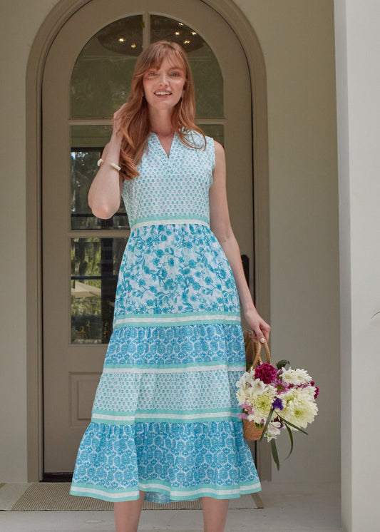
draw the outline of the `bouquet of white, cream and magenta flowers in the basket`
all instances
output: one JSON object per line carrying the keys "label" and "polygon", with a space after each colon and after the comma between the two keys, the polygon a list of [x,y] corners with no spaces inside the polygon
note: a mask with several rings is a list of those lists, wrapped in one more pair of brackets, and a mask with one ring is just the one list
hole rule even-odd
{"label": "bouquet of white, cream and magenta flowers in the basket", "polygon": [[[285,369],[286,366],[289,368]],[[243,409],[242,414],[237,415],[262,428],[260,441],[264,436],[270,441],[272,456],[279,469],[275,440],[282,429],[286,429],[290,438],[288,456],[292,454],[292,431],[307,434],[304,429],[317,415],[318,387],[305,369],[292,369],[288,360],[278,362],[277,368],[267,362],[252,366],[236,386],[237,400]]]}

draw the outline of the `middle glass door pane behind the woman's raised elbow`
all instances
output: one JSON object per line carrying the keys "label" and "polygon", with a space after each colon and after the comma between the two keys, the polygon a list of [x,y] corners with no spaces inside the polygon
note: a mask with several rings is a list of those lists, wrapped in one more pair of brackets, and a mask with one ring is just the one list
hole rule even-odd
{"label": "middle glass door pane behind the woman's raised elbow", "polygon": [[101,220],[88,206],[88,189],[97,161],[111,137],[111,126],[71,126],[71,229],[128,229],[123,202],[113,218]]}

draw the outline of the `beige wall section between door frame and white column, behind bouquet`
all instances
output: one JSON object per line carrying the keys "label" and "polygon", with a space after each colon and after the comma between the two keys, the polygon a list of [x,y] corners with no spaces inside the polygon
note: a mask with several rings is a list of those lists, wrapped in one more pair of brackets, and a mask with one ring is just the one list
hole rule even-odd
{"label": "beige wall section between door frame and white column, behind bouquet", "polygon": [[[339,241],[332,0],[235,0],[265,56],[272,355],[319,384],[279,481],[339,481]],[[280,458],[287,456],[284,434]]]}

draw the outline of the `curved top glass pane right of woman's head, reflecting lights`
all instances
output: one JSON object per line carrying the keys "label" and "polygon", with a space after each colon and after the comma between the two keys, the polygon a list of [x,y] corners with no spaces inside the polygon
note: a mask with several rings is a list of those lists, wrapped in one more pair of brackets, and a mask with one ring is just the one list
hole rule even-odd
{"label": "curved top glass pane right of woman's head, reflecting lights", "polygon": [[188,53],[195,83],[197,116],[223,116],[223,78],[212,49],[197,31],[165,16],[150,16],[151,42],[165,39],[180,44]]}

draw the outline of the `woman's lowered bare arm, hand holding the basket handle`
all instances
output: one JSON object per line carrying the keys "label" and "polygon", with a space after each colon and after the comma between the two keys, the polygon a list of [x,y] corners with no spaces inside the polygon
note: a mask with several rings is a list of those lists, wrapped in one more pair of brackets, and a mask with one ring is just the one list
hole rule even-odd
{"label": "woman's lowered bare arm, hand holding the basket handle", "polygon": [[252,338],[264,342],[269,339],[270,326],[260,317],[252,301],[250,289],[245,280],[240,249],[232,231],[227,205],[225,150],[215,143],[215,168],[210,187],[210,227],[225,252],[235,278],[237,293],[245,319],[252,329]]}

